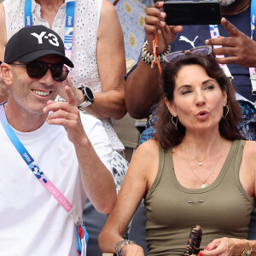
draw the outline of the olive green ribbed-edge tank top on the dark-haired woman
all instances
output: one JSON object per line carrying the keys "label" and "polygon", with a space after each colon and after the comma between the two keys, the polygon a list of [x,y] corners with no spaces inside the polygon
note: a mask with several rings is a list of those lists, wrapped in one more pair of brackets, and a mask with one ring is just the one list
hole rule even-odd
{"label": "olive green ribbed-edge tank top on the dark-haired woman", "polygon": [[247,238],[253,199],[239,179],[245,141],[232,143],[216,180],[204,189],[187,189],[177,181],[172,149],[160,148],[159,169],[145,197],[147,255],[184,253],[189,232],[201,225],[201,249],[221,237]]}

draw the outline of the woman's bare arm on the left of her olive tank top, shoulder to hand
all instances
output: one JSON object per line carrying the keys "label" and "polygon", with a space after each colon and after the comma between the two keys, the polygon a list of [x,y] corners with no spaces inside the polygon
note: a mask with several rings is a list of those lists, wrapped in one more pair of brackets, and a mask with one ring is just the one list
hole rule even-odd
{"label": "woman's bare arm on the left of her olive tank top, shoulder to hand", "polygon": [[[116,244],[123,239],[126,227],[148,191],[148,181],[155,176],[157,169],[158,145],[155,141],[148,140],[137,148],[132,157],[125,181],[119,191],[117,204],[110,212],[99,236],[102,252],[114,253]],[[143,256],[143,248],[129,244],[123,247],[122,255]]]}

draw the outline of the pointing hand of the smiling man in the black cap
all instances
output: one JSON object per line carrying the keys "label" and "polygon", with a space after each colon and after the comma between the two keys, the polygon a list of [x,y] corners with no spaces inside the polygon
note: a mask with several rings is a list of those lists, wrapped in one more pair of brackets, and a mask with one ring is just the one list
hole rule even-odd
{"label": "pointing hand of the smiling man in the black cap", "polygon": [[82,137],[86,137],[81,123],[79,108],[77,107],[72,90],[66,85],[68,102],[47,102],[44,113],[49,113],[47,122],[49,125],[63,125],[67,131],[67,137],[73,143],[79,143]]}

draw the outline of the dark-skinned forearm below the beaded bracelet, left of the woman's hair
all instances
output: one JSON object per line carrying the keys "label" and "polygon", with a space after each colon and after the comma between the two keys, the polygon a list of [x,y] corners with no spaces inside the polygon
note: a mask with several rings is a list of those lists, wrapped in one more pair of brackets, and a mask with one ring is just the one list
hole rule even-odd
{"label": "dark-skinned forearm below the beaded bracelet, left of the woman's hair", "polygon": [[159,70],[140,61],[125,82],[125,104],[132,118],[148,117],[150,107],[158,101]]}

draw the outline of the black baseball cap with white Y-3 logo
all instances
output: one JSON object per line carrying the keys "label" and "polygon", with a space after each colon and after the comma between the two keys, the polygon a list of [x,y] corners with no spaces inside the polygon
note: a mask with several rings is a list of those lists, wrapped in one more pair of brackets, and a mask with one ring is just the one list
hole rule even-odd
{"label": "black baseball cap with white Y-3 logo", "polygon": [[26,26],[16,32],[5,48],[4,62],[34,61],[45,55],[59,55],[64,64],[73,67],[73,62],[65,56],[61,37],[46,26]]}

